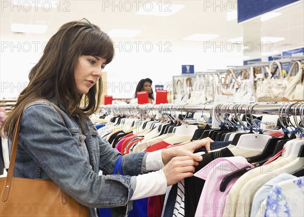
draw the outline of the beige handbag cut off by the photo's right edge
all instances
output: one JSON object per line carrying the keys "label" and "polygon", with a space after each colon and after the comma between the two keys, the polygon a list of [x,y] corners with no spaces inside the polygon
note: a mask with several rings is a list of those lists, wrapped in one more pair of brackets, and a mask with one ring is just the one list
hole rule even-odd
{"label": "beige handbag cut off by the photo's right edge", "polygon": [[[297,73],[290,76],[294,70]],[[282,101],[304,101],[304,65],[299,61],[292,64],[288,73],[287,88],[282,97]]]}

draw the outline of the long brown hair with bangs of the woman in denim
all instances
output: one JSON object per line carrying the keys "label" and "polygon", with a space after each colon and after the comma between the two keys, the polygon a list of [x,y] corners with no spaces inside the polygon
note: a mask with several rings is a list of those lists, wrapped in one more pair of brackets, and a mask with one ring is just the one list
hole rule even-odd
{"label": "long brown hair with bangs of the woman in denim", "polygon": [[19,114],[31,100],[37,98],[55,97],[69,117],[74,113],[81,120],[98,109],[102,93],[101,79],[84,96],[85,105],[80,108],[83,95],[77,93],[74,67],[81,55],[101,57],[108,64],[114,56],[113,42],[98,26],[86,21],[62,25],[48,41],[39,62],[30,70],[29,84],[20,93],[14,109],[2,125],[4,136],[13,134]]}

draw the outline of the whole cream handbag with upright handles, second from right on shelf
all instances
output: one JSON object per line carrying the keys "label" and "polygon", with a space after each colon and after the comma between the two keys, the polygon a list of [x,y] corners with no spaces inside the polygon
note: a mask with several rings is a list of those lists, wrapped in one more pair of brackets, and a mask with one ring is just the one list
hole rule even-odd
{"label": "whole cream handbag with upright handles, second from right on shelf", "polygon": [[[271,73],[274,65],[277,69]],[[283,78],[282,66],[278,61],[271,62],[268,77],[262,73],[263,79],[256,81],[255,99],[257,102],[280,102],[286,89],[286,79]]]}

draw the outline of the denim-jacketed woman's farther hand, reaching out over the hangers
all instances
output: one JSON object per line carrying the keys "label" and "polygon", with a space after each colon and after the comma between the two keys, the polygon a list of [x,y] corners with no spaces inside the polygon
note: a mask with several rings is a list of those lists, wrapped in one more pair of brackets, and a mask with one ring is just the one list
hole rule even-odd
{"label": "denim-jacketed woman's farther hand, reaching out over the hangers", "polygon": [[196,149],[206,147],[207,151],[210,151],[210,143],[213,142],[209,137],[191,142],[185,145],[179,145],[162,150],[163,163],[166,165],[173,157],[177,156],[189,156],[195,161],[195,165],[198,165],[197,161],[202,161],[203,158],[200,155],[194,154]]}

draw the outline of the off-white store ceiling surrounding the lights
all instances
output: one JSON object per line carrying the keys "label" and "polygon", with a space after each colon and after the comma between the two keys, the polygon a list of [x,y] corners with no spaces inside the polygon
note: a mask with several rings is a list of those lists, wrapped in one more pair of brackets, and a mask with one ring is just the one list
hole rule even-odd
{"label": "off-white store ceiling surrounding the lights", "polygon": [[[237,20],[227,21],[227,12],[223,8],[204,8],[204,1],[170,1],[172,4],[181,4],[185,7],[169,17],[137,15],[134,3],[136,1],[128,1],[133,5],[131,11],[124,10],[123,4],[126,1],[115,1],[117,5],[122,4],[121,8],[111,6],[105,8],[105,2],[113,3],[113,1],[61,1],[60,8],[49,10],[46,7],[43,10],[32,7],[29,11],[22,7],[12,8],[11,5],[7,8],[2,7],[1,40],[48,40],[62,24],[87,18],[105,32],[111,29],[141,30],[141,33],[134,38],[113,38],[114,41],[162,40],[178,42],[184,46],[196,46],[202,45],[203,42],[184,41],[182,38],[195,33],[218,34],[219,37],[214,41],[226,42],[230,38],[249,34],[255,37],[250,40],[260,40],[262,36],[285,37],[285,40],[274,44],[273,50],[283,51],[304,46],[304,1],[302,0],[276,10],[282,13],[281,16],[264,22],[255,20],[243,24],[238,24]],[[48,30],[45,34],[13,33],[12,23],[45,24],[48,25]],[[243,32],[244,30],[246,32]]]}

